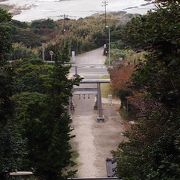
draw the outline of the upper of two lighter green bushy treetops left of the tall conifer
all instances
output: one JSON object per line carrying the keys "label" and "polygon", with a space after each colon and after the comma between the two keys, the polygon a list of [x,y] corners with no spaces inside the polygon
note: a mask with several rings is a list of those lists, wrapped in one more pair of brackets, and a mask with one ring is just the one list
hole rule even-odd
{"label": "upper of two lighter green bushy treetops left of the tall conifer", "polygon": [[14,67],[14,90],[20,92],[39,92],[46,94],[52,66],[37,58],[16,61]]}

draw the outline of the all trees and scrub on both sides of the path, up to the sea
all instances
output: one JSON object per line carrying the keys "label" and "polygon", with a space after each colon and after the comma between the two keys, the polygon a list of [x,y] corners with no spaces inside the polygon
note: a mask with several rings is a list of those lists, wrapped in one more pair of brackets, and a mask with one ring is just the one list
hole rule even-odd
{"label": "all trees and scrub on both sides of the path, up to the sea", "polygon": [[[123,180],[180,179],[180,3],[156,3],[146,15],[107,16],[112,88],[134,121],[113,152]],[[0,179],[16,170],[73,177],[68,104],[80,77],[67,78],[67,63],[72,50],[108,44],[104,16],[24,23],[0,9],[0,42]],[[42,44],[54,65],[42,61]]]}

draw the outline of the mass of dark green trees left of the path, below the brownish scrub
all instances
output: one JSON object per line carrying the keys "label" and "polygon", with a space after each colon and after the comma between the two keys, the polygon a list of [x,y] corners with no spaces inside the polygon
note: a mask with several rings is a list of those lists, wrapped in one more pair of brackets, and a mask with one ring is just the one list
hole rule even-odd
{"label": "mass of dark green trees left of the path, below the brownish scrub", "polygon": [[[0,20],[0,179],[16,170],[33,171],[43,180],[67,178],[74,174],[68,104],[79,82],[68,79],[69,43],[56,49],[55,65],[42,62],[23,41],[13,44],[10,53],[14,25],[1,9]],[[16,26],[28,28],[25,23]],[[14,61],[6,61],[7,54]]]}

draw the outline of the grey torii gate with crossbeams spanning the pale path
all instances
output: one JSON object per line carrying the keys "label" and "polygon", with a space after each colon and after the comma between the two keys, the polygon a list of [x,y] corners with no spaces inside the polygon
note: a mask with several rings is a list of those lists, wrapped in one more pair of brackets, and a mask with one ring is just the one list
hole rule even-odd
{"label": "grey torii gate with crossbeams spanning the pale path", "polygon": [[74,88],[73,93],[77,91],[93,92],[97,94],[97,106],[98,106],[98,117],[97,121],[104,121],[103,109],[102,109],[102,98],[101,98],[101,84],[110,83],[110,79],[83,79],[81,84],[97,84],[97,88]]}

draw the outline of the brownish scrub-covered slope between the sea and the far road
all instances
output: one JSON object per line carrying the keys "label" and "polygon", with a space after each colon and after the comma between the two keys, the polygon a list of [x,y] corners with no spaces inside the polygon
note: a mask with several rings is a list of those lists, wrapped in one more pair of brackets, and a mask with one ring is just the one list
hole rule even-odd
{"label": "brownish scrub-covered slope between the sea and the far road", "polygon": [[[124,14],[124,12],[107,15],[108,25],[111,28],[111,41],[117,39],[122,24],[132,17],[132,15]],[[8,56],[10,60],[19,59],[20,55],[22,57],[27,56],[29,52],[27,53],[25,48],[33,49],[33,51],[35,49],[40,57],[41,46],[44,45],[45,59],[49,60],[49,51],[55,51],[62,47],[64,41],[69,42],[71,50],[76,51],[76,54],[101,47],[108,42],[108,29],[104,26],[103,15],[94,15],[77,20],[68,18],[58,21],[51,19],[36,20],[32,23],[12,20],[11,25],[12,42],[15,44],[13,49],[15,50]]]}

